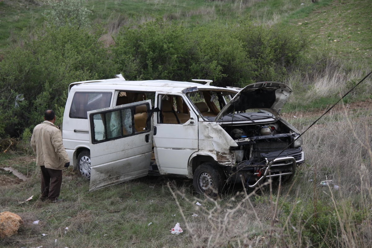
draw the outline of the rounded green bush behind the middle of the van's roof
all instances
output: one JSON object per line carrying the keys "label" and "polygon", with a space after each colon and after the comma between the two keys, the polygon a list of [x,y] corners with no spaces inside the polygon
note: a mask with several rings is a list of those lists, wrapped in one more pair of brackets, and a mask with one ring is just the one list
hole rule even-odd
{"label": "rounded green bush behind the middle of the van's roof", "polygon": [[113,48],[115,64],[125,78],[185,80],[195,58],[187,29],[163,21],[124,28]]}

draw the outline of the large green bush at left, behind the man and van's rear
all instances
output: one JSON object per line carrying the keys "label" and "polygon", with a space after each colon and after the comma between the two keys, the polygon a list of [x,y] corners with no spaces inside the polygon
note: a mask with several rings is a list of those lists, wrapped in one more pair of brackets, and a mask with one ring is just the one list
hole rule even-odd
{"label": "large green bush at left, behind the man and van's rear", "polygon": [[[0,62],[0,114],[4,120],[0,135],[19,136],[42,121],[45,109],[64,106],[71,82],[112,77],[107,51],[98,41],[100,35],[77,26],[51,26],[38,30],[35,39],[22,47],[8,51]],[[17,94],[24,96],[18,107]]]}

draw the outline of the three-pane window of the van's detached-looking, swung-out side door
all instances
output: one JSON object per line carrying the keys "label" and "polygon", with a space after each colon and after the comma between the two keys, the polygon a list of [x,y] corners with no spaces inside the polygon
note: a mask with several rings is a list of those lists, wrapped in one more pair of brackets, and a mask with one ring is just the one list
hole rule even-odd
{"label": "three-pane window of the van's detached-looking, swung-out side door", "polygon": [[148,104],[142,104],[94,114],[90,117],[93,123],[91,127],[93,144],[149,132],[151,123],[148,115],[151,113],[147,113],[147,109],[150,109]]}

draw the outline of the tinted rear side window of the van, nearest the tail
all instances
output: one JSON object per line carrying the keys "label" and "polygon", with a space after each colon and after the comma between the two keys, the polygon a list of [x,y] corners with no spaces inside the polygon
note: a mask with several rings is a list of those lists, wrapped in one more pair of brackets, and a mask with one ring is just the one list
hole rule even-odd
{"label": "tinted rear side window of the van, nearest the tail", "polygon": [[72,99],[70,118],[87,119],[90,110],[110,107],[111,92],[76,92]]}

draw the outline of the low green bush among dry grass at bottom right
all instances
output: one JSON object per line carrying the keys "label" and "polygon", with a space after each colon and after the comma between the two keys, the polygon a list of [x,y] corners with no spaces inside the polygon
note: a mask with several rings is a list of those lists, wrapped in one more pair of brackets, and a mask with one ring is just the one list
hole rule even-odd
{"label": "low green bush among dry grass at bottom right", "polygon": [[[310,200],[310,201],[309,201]],[[354,232],[350,226],[362,223],[366,217],[363,211],[352,206],[350,202],[337,202],[337,208],[331,200],[297,199],[295,204],[281,201],[282,220],[288,222],[288,231],[294,236],[301,235],[302,244],[313,247],[338,247],[342,240],[342,229]],[[341,217],[340,217],[341,215]],[[301,233],[296,233],[296,230]]]}

